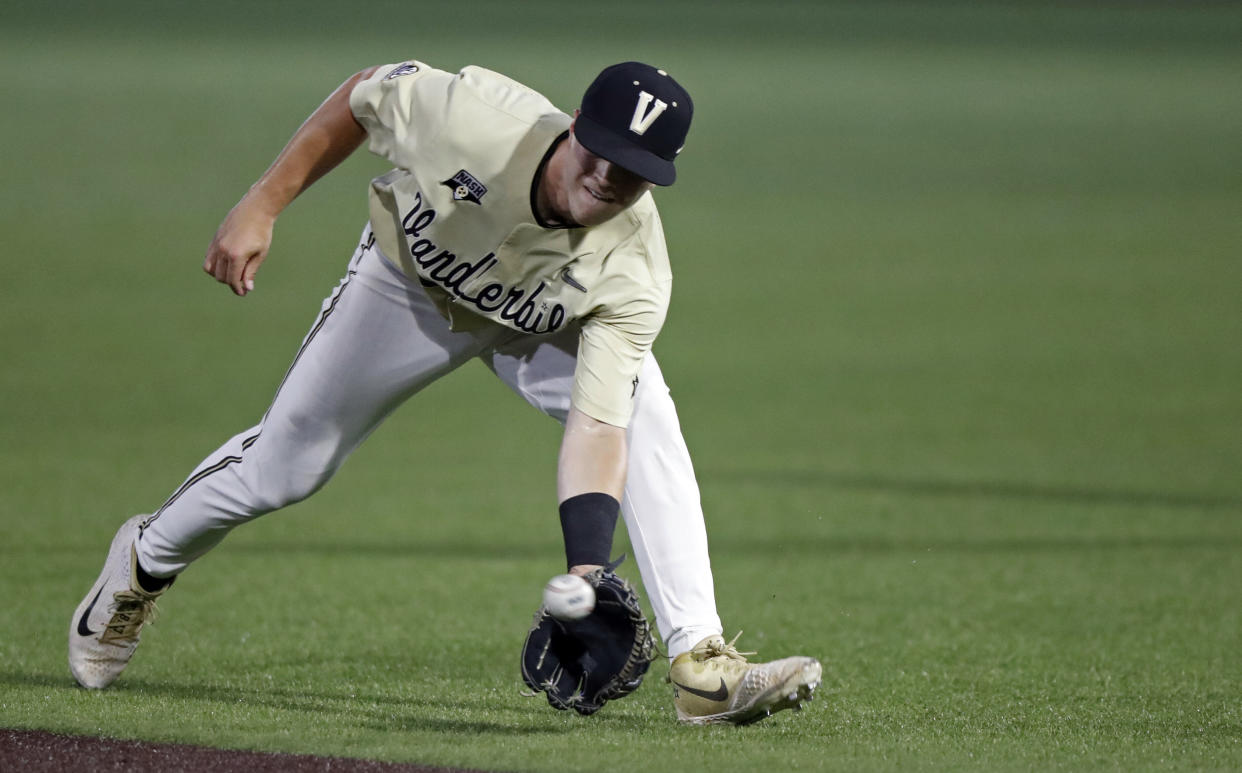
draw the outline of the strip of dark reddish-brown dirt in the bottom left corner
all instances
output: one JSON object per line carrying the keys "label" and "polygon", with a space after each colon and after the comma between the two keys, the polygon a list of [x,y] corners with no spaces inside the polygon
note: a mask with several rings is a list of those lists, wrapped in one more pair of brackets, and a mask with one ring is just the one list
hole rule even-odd
{"label": "strip of dark reddish-brown dirt in the bottom left corner", "polygon": [[0,730],[0,771],[471,773],[460,768],[428,768],[374,759],[238,752],[144,741],[57,736],[25,730]]}

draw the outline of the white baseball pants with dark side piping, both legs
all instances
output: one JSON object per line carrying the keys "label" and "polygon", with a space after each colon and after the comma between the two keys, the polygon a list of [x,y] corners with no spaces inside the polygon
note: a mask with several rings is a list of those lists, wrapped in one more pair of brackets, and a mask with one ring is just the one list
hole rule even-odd
{"label": "white baseball pants with dark side piping, both legs", "polygon": [[[452,332],[370,227],[324,301],[262,421],[207,456],[148,521],[137,544],[156,577],[180,573],[236,526],[319,490],[401,403],[478,357],[564,424],[578,329]],[[698,483],[653,355],[640,373],[621,512],[671,657],[719,634]],[[551,513],[549,517],[553,517]]]}

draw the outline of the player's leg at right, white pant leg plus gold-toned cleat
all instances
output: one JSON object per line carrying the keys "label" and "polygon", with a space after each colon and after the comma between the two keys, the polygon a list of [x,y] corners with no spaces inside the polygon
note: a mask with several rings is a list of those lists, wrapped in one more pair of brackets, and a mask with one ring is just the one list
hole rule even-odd
{"label": "player's leg at right, white pant leg plus gold-toned cleat", "polygon": [[[481,357],[514,391],[564,423],[578,331],[515,336]],[[627,431],[630,464],[621,512],[656,626],[672,657],[677,718],[693,725],[755,722],[800,708],[821,679],[814,657],[750,662],[720,636],[698,482],[656,358],[638,374]]]}

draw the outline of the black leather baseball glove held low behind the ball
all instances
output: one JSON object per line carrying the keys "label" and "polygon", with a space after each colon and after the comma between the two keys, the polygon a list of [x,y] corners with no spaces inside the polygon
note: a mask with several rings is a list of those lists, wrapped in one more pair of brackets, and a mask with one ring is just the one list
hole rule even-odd
{"label": "black leather baseball glove held low behind the ball", "polygon": [[655,659],[638,594],[612,573],[619,563],[582,578],[595,588],[595,609],[585,618],[558,620],[544,606],[535,611],[522,646],[522,680],[544,692],[553,708],[592,715],[637,690]]}

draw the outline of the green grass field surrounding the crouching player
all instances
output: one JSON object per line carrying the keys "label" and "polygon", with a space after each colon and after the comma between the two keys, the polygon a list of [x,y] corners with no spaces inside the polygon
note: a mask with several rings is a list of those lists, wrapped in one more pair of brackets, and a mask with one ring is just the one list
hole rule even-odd
{"label": "green grass field surrounding the crouching player", "polygon": [[[1242,767],[1242,10],[112,5],[0,11],[0,726],[504,771]],[[407,57],[565,108],[623,58],[694,94],[656,352],[727,635],[822,659],[806,711],[679,727],[660,662],[592,718],[519,696],[559,434],[482,367],[195,564],[112,690],[72,685],[113,531],[261,416],[384,167],[297,201],[243,301],[199,270],[216,225]]]}

